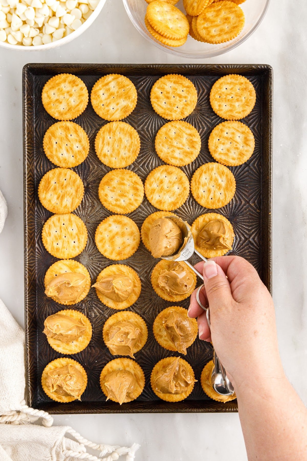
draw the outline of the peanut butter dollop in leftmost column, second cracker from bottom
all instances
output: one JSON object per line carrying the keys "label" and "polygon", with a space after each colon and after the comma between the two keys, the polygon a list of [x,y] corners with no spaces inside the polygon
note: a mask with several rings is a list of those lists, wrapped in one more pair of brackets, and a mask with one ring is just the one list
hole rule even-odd
{"label": "peanut butter dollop in leftmost column, second cracker from bottom", "polygon": [[79,339],[87,329],[84,320],[74,319],[69,315],[49,315],[44,322],[44,333],[47,338],[58,339],[63,343],[71,343]]}

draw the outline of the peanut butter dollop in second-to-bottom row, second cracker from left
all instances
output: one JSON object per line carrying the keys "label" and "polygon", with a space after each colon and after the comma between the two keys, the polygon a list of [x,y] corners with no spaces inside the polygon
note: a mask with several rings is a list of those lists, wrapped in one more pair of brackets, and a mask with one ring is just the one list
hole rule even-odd
{"label": "peanut butter dollop in second-to-bottom row, second cracker from left", "polygon": [[134,359],[141,331],[133,322],[122,321],[112,325],[106,333],[105,345],[112,355],[129,355]]}

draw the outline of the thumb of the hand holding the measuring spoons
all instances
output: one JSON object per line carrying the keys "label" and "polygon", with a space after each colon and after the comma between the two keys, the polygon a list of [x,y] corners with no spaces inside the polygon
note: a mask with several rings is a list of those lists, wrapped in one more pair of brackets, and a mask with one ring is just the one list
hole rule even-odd
{"label": "thumb of the hand holding the measuring spoons", "polygon": [[219,308],[232,300],[232,290],[223,269],[215,261],[209,260],[203,265],[203,284],[209,308]]}

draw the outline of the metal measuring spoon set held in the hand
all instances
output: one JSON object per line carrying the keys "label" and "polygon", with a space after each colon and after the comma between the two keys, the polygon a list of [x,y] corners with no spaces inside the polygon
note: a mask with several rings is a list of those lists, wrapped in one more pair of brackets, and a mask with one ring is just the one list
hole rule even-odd
{"label": "metal measuring spoon set held in the hand", "polygon": [[[195,272],[199,278],[203,280],[202,274],[197,272],[195,267],[193,267],[188,259],[191,258],[191,256],[196,253],[203,261],[207,262],[207,258],[204,258],[202,254],[200,254],[194,246],[194,239],[191,233],[190,226],[181,218],[178,216],[165,216],[162,219],[171,219],[175,224],[178,225],[182,237],[183,237],[183,244],[175,254],[171,254],[170,256],[161,256],[162,259],[168,260],[168,261],[185,261],[185,264],[187,264],[193,272]],[[199,292],[203,288],[204,285],[201,285],[196,292],[196,300],[199,304],[200,307],[203,308],[204,311],[206,311],[206,316],[208,320],[208,325],[210,328],[210,313],[209,313],[209,307],[203,306],[202,302],[199,299]],[[229,381],[226,375],[226,371],[224,366],[220,363],[220,360],[218,356],[215,354],[215,351],[213,351],[213,358],[214,358],[214,369],[212,372],[211,376],[211,383],[213,389],[220,394],[221,396],[231,396],[234,393],[234,389],[232,386],[232,383]]]}

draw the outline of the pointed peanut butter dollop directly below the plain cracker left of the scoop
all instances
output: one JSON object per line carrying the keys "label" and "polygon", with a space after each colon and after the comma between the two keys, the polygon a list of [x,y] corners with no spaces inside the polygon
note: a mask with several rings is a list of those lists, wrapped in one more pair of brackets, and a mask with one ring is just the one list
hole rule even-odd
{"label": "pointed peanut butter dollop directly below the plain cracker left of the scoop", "polygon": [[93,284],[104,296],[113,301],[126,301],[133,290],[133,281],[127,275],[110,275]]}

